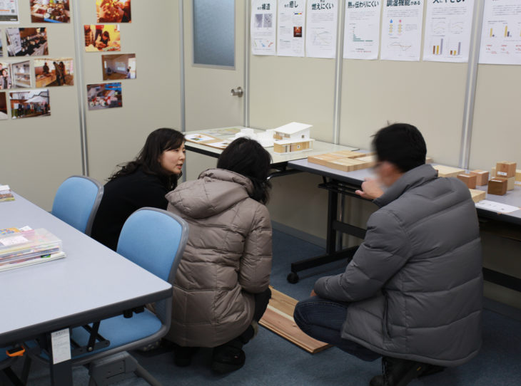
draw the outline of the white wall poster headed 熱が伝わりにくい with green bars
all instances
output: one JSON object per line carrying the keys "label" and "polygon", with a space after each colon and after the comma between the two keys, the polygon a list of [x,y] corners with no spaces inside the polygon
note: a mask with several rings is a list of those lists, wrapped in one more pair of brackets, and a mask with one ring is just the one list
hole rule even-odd
{"label": "white wall poster headed \u71b1\u304c\u4f1d\u308f\u308a\u306b\u304f\u3044 with green bars", "polygon": [[374,1],[346,1],[344,59],[378,59],[382,4]]}

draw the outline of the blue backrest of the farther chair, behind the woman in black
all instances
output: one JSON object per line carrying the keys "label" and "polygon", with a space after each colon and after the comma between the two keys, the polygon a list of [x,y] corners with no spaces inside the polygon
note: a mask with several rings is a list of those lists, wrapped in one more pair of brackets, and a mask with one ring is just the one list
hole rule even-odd
{"label": "blue backrest of the farther chair, behind the woman in black", "polygon": [[102,196],[103,185],[96,179],[69,177],[54,196],[51,214],[90,236]]}

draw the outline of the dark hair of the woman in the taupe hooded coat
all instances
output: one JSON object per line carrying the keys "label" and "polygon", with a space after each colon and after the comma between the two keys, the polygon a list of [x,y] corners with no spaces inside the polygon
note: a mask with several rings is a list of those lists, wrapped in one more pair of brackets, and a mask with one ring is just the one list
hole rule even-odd
{"label": "dark hair of the woman in the taupe hooded coat", "polygon": [[270,153],[259,142],[248,137],[240,137],[223,150],[217,161],[217,167],[251,179],[253,183],[251,198],[266,204],[271,187],[268,181],[270,163]]}

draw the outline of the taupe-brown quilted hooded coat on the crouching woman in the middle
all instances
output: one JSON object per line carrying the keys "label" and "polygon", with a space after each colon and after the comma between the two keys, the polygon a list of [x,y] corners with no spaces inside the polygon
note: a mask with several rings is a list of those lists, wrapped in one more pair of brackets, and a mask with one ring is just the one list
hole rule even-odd
{"label": "taupe-brown quilted hooded coat on the crouching woman in the middle", "polygon": [[173,285],[171,330],[183,346],[215,347],[253,320],[253,293],[268,288],[271,223],[268,209],[249,197],[250,179],[209,169],[166,194],[168,211],[190,226]]}

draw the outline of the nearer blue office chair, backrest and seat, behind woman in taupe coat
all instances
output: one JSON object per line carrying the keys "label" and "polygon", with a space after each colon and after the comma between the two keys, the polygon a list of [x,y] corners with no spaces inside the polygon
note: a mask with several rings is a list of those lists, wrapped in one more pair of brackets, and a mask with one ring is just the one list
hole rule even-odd
{"label": "nearer blue office chair, backrest and seat, behind woman in taupe coat", "polygon": [[[117,252],[173,283],[187,240],[188,224],[183,219],[162,209],[142,208],[125,221]],[[143,377],[151,385],[160,385],[134,358],[122,352],[142,348],[161,339],[170,328],[171,306],[171,298],[168,298],[156,303],[156,314],[145,308],[131,318],[120,315],[101,320],[98,334],[110,341],[110,345],[75,356],[72,358],[73,364],[88,364],[91,374],[89,385],[118,382],[130,372]],[[91,333],[83,327],[72,329],[71,340],[79,348],[86,348],[90,337]],[[118,370],[115,372],[114,369]]]}

